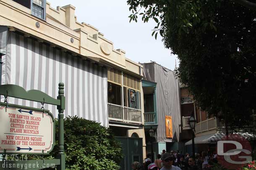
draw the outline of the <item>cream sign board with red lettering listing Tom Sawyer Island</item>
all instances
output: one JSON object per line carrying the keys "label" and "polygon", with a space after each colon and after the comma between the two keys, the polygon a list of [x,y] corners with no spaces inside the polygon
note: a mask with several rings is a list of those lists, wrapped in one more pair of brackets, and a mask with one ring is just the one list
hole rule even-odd
{"label": "cream sign board with red lettering listing Tom Sawyer Island", "polygon": [[0,106],[0,153],[47,153],[54,142],[54,122],[47,113]]}

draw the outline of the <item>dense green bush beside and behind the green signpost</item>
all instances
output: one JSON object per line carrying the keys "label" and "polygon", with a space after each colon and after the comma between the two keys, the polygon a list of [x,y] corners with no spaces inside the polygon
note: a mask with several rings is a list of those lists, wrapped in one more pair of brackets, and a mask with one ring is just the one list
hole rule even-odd
{"label": "dense green bush beside and behind the green signpost", "polygon": [[[44,159],[53,159],[58,150],[58,120],[55,122],[55,146]],[[110,129],[79,117],[64,119],[65,170],[118,170],[122,148]],[[38,155],[29,160],[42,159]]]}

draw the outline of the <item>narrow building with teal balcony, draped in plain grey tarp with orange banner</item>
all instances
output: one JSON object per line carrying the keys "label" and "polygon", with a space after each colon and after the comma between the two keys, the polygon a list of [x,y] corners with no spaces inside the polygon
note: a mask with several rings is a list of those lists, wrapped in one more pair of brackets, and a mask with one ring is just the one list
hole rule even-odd
{"label": "narrow building with teal balcony, draped in plain grey tarp with orange banner", "polygon": [[148,130],[152,127],[155,129],[153,154],[156,157],[157,154],[162,153],[162,150],[168,152],[178,150],[178,147],[174,146],[180,140],[180,86],[173,71],[155,62],[142,63],[142,65],[143,89],[147,91],[146,94],[149,94],[147,96],[144,94],[147,152],[151,152],[152,139],[149,137]]}

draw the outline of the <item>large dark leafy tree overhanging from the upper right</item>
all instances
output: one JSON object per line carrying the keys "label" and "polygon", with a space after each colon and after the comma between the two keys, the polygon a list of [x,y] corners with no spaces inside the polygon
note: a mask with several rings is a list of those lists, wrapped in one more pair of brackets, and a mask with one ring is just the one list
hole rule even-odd
{"label": "large dark leafy tree overhanging from the upper right", "polygon": [[201,109],[230,126],[251,121],[256,109],[255,0],[127,3],[130,21],[137,22],[138,15],[144,22],[156,21],[152,36],[159,33],[165,47],[178,55],[178,77]]}

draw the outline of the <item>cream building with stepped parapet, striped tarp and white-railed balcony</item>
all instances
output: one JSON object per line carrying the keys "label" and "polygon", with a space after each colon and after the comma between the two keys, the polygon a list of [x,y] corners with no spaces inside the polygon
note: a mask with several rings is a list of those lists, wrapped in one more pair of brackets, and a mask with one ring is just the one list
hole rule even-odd
{"label": "cream building with stepped parapet, striped tarp and white-railed balcony", "polygon": [[[66,117],[94,120],[145,145],[143,66],[115,49],[97,28],[79,23],[75,9],[54,9],[45,0],[0,0],[1,83],[56,97],[63,82]],[[41,108],[21,99],[8,102]],[[44,108],[57,116],[55,106]],[[142,153],[126,165],[133,158],[142,162]]]}

